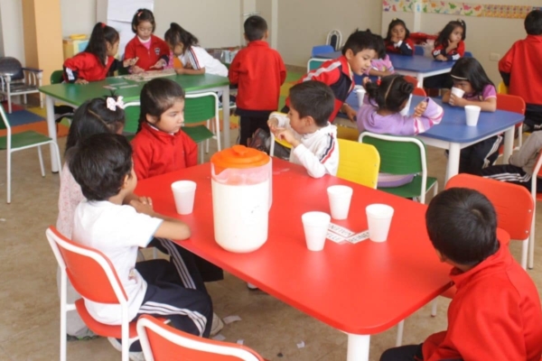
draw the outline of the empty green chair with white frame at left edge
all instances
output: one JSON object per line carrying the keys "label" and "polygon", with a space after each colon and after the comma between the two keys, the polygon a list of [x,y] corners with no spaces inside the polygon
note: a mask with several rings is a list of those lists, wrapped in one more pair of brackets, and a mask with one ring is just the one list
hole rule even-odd
{"label": "empty green chair with white frame at left edge", "polygon": [[2,116],[2,122],[0,122],[0,130],[5,130],[7,135],[0,137],[0,150],[7,151],[7,203],[11,203],[11,154],[17,151],[23,151],[24,149],[37,147],[38,156],[40,157],[40,167],[42,169],[42,177],[45,177],[45,170],[43,169],[43,157],[42,157],[42,145],[52,144],[54,154],[58,162],[59,174],[61,173],[61,153],[59,151],[58,144],[50,137],[43,134],[39,134],[33,131],[26,131],[23,133],[12,134],[11,126],[5,116],[4,106],[0,106],[0,116]]}

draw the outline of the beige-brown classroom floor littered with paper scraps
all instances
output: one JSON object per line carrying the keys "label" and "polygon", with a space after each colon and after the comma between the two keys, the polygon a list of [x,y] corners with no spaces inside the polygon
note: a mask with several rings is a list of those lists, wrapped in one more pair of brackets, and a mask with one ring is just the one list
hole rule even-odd
{"label": "beige-brown classroom floor littered with paper scraps", "polygon": [[[237,130],[232,130],[232,143],[236,137]],[[65,137],[59,140],[61,150],[65,140]],[[48,148],[44,159],[50,169]],[[442,150],[428,147],[429,174],[438,177],[440,189],[444,188],[445,162]],[[42,178],[34,150],[14,153],[13,165],[12,204],[7,205],[5,153],[0,153],[0,361],[55,360],[60,345],[57,265],[44,233],[56,222],[59,175],[47,171]],[[537,213],[537,229],[542,229],[542,212]],[[512,242],[510,248],[519,259],[519,243]],[[535,264],[536,268],[528,273],[542,290],[542,242],[537,244]],[[220,332],[227,341],[243,340],[245,345],[273,361],[346,359],[347,337],[341,331],[264,292],[248,291],[245,282],[228,273],[224,281],[207,286],[220,317],[241,318]],[[429,334],[445,329],[448,303],[439,300],[435,318],[430,317],[430,306],[425,306],[406,319],[404,344],[423,342]],[[394,327],[372,337],[370,360],[378,360],[382,351],[393,347],[396,334]],[[297,345],[302,341],[304,347],[300,348]],[[69,342],[68,359],[119,360],[120,353],[107,339],[98,338]]]}

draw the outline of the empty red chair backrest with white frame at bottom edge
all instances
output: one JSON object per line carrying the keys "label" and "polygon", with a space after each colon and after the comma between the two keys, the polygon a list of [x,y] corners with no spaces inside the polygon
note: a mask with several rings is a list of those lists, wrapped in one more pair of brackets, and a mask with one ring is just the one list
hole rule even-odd
{"label": "empty red chair backrest with white frame at bottom edge", "polygon": [[137,335],[147,361],[198,360],[198,361],[264,361],[252,349],[199,338],[180,329],[173,329],[149,315],[137,319]]}

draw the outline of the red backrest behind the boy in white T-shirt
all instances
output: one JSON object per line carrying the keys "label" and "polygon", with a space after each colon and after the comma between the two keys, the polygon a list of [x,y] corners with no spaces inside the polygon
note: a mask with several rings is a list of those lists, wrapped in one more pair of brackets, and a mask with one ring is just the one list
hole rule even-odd
{"label": "red backrest behind the boy in white T-shirt", "polygon": [[55,227],[45,232],[52,252],[75,291],[89,300],[126,305],[126,292],[106,255],[62,236]]}

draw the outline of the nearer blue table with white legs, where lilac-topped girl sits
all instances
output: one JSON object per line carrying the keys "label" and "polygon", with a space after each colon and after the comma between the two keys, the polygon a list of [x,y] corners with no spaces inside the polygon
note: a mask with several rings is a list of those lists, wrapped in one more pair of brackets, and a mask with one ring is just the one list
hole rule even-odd
{"label": "nearer blue table with white legs, where lilac-topped girl sits", "polygon": [[[410,109],[414,109],[423,99],[424,97],[412,97]],[[466,125],[465,110],[463,107],[443,104],[440,98],[434,98],[433,100],[443,106],[443,120],[427,132],[418,134],[417,137],[427,145],[448,150],[446,181],[459,172],[459,158],[463,148],[503,132],[503,162],[508,163],[514,145],[514,128],[515,125],[523,121],[524,116],[522,114],[504,110],[497,110],[494,113],[481,112],[478,125],[468,126]],[[358,98],[354,92],[350,93],[347,103],[353,109],[358,110]]]}

